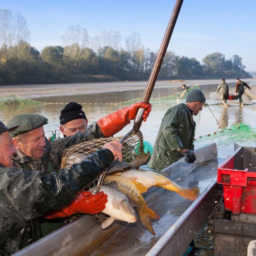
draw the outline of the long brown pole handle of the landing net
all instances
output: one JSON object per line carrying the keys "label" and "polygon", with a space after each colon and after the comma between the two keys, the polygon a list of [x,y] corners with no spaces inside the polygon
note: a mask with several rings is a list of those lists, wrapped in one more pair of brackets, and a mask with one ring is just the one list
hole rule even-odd
{"label": "long brown pole handle of the landing net", "polygon": [[[156,79],[159,74],[159,70],[160,70],[162,62],[164,60],[164,56],[165,56],[166,50],[168,48],[168,44],[170,42],[172,32],[174,30],[178,15],[180,13],[180,8],[182,6],[182,3],[183,3],[183,0],[176,0],[175,6],[172,11],[171,18],[169,20],[168,26],[166,28],[166,32],[164,34],[164,38],[162,40],[162,44],[161,44],[159,52],[158,52],[158,56],[156,57],[154,66],[152,68],[150,77],[148,79],[148,84],[147,84],[147,87],[146,87],[146,90],[144,93],[144,97],[143,97],[143,102],[145,102],[145,103],[148,103],[150,100],[150,96],[154,89]],[[136,114],[136,118],[135,118],[134,126],[133,126],[134,132],[138,132],[138,130],[140,129],[140,126],[141,126],[142,120],[143,120],[144,111],[145,111],[144,108],[140,108],[138,110],[138,113]]]}

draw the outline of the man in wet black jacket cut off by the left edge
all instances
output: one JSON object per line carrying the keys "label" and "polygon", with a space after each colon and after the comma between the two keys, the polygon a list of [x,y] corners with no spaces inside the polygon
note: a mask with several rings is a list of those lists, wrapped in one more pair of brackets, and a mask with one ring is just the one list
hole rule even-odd
{"label": "man in wet black jacket cut off by the left edge", "polygon": [[[110,142],[70,169],[44,175],[13,167],[16,149],[7,128],[0,122],[0,256],[8,256],[42,237],[38,217],[70,202],[73,213],[95,214],[105,208],[107,196],[82,192],[115,158],[122,158],[119,142]],[[79,178],[78,178],[79,177]],[[72,201],[73,200],[73,201]]]}

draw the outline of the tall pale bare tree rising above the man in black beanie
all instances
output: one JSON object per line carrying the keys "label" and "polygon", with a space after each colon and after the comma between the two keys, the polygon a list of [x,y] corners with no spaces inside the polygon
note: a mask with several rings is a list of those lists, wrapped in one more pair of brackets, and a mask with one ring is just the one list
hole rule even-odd
{"label": "tall pale bare tree rising above the man in black beanie", "polygon": [[88,44],[88,33],[86,29],[78,25],[69,26],[61,38],[64,46],[64,54],[69,56],[76,66],[83,48]]}

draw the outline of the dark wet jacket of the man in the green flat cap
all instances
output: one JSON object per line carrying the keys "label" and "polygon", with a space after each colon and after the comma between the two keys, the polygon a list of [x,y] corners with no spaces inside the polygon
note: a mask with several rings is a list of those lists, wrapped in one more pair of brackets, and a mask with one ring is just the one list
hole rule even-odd
{"label": "dark wet jacket of the man in the green flat cap", "polygon": [[20,150],[17,150],[17,157],[14,159],[13,164],[16,168],[24,168],[28,171],[40,170],[44,174],[49,174],[60,169],[61,159],[66,148],[96,138],[104,138],[104,135],[98,124],[94,122],[84,132],[77,132],[73,136],[62,138],[52,143],[45,138],[44,156],[40,159],[25,156]]}

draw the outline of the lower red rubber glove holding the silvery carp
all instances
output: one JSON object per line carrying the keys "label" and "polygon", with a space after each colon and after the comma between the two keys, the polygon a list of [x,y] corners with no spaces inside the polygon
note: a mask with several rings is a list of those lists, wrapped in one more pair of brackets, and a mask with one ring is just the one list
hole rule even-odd
{"label": "lower red rubber glove holding the silvery carp", "polygon": [[107,195],[103,191],[95,195],[89,191],[83,191],[69,205],[46,214],[45,218],[65,218],[75,213],[96,214],[105,209],[106,202],[108,202]]}

